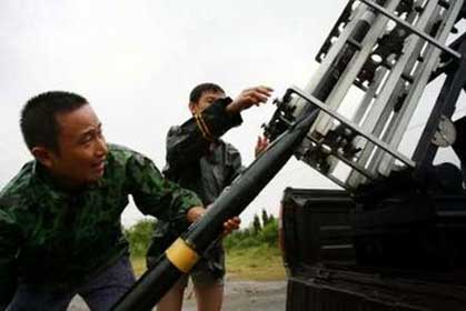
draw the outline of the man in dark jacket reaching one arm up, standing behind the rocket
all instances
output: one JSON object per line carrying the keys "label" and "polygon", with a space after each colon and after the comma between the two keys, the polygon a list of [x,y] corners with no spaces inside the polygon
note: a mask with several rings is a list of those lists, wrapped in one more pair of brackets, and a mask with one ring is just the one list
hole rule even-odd
{"label": "man in dark jacket reaching one arm up, standing behind the rocket", "polygon": [[[240,111],[267,101],[271,89],[251,88],[235,100],[214,83],[197,86],[190,93],[192,113],[182,126],[172,127],[167,136],[166,177],[196,192],[205,205],[212,203],[241,171],[238,150],[220,139],[241,124]],[[259,138],[256,153],[267,147]],[[169,222],[159,221],[148,251],[148,265],[179,235]],[[198,310],[220,310],[224,292],[225,254],[220,243],[210,248],[192,269]],[[181,310],[187,277],[180,280],[159,302],[159,311]]]}

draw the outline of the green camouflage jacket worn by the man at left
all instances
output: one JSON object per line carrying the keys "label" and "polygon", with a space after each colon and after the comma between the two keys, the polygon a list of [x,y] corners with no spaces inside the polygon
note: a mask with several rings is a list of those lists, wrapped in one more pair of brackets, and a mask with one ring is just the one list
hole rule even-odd
{"label": "green camouflage jacket worn by the man at left", "polygon": [[106,172],[79,194],[57,189],[38,162],[0,192],[0,304],[17,281],[50,290],[79,285],[128,252],[120,217],[131,194],[145,214],[187,228],[201,202],[165,180],[153,162],[109,144]]}

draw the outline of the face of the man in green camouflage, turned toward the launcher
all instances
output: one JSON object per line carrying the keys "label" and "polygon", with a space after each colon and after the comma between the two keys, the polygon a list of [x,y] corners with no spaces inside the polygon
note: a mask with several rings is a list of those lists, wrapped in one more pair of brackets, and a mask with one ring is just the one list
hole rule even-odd
{"label": "face of the man in green camouflage, turned toward the launcher", "polygon": [[103,175],[107,144],[101,123],[89,104],[56,116],[58,149],[50,151],[46,167],[68,187],[95,182]]}

